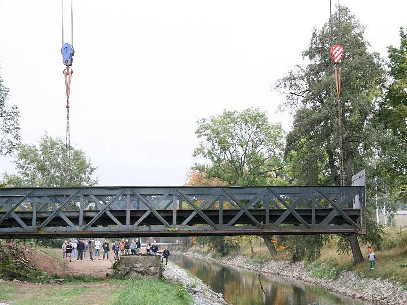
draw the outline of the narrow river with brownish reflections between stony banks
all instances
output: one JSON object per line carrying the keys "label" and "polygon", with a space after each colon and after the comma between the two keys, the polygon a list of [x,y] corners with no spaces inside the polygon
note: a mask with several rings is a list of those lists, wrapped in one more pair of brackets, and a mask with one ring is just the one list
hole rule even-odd
{"label": "narrow river with brownish reflections between stony banks", "polygon": [[234,305],[366,304],[301,281],[262,273],[264,294],[254,271],[179,254],[171,255],[171,260],[191,271],[214,291],[222,293]]}

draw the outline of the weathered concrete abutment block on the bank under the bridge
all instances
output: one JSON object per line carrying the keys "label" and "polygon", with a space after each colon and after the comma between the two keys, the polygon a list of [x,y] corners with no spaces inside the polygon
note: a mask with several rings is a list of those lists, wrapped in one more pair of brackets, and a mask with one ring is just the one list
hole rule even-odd
{"label": "weathered concrete abutment block on the bank under the bridge", "polygon": [[124,277],[135,279],[161,279],[159,255],[122,255],[117,271]]}

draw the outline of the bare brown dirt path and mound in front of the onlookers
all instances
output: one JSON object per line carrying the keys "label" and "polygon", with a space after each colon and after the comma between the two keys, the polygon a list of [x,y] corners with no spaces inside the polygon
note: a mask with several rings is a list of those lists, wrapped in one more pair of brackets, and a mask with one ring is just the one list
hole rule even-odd
{"label": "bare brown dirt path and mound in front of the onlookers", "polygon": [[[60,249],[48,249],[49,252],[53,252],[55,255],[61,255]],[[73,259],[72,262],[62,262],[45,255],[41,251],[33,251],[27,253],[30,258],[30,262],[36,266],[37,269],[45,271],[49,274],[63,275],[88,275],[93,277],[106,277],[106,273],[113,273],[111,259],[89,260],[89,253],[83,261]]]}

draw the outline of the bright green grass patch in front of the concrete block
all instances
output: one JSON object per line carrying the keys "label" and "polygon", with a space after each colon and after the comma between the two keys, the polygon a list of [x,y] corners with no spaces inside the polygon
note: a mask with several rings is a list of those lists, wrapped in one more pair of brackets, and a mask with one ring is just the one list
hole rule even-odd
{"label": "bright green grass patch in front of the concrete block", "polygon": [[112,305],[189,305],[192,297],[182,285],[164,280],[129,280]]}

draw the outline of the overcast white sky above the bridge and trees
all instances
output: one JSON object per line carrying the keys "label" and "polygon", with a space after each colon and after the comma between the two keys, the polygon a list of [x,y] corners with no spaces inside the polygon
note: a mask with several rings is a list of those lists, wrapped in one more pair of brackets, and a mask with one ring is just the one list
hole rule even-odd
{"label": "overcast white sky above the bridge and trees", "polygon": [[[399,45],[407,1],[341,4],[383,57]],[[198,161],[198,119],[258,106],[289,130],[271,86],[328,17],[329,0],[74,0],[71,142],[98,166],[99,185],[183,184]],[[25,143],[65,139],[60,49],[60,1],[0,0],[0,74]],[[5,170],[13,163],[0,157]]]}

